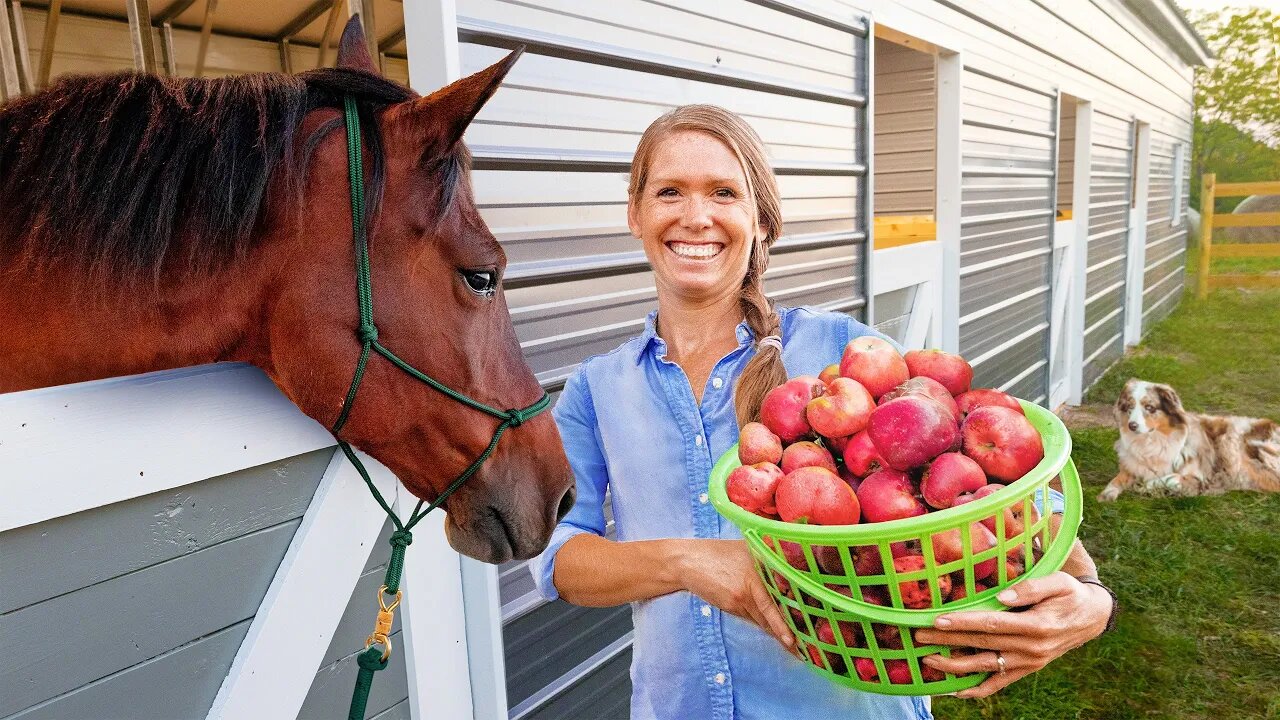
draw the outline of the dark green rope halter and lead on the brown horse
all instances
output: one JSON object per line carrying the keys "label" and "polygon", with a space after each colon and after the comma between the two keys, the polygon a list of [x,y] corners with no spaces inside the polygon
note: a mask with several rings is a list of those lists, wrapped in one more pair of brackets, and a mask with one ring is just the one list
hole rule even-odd
{"label": "dark green rope halter and lead on the brown horse", "polygon": [[[374,495],[374,500],[378,501],[378,505],[381,506],[392,524],[396,527],[396,532],[392,533],[389,541],[392,546],[392,556],[390,560],[387,561],[387,575],[383,579],[383,587],[378,589],[378,621],[374,625],[374,632],[365,641],[365,651],[356,657],[360,673],[356,675],[356,689],[351,696],[351,710],[347,714],[347,719],[364,720],[365,707],[369,705],[369,691],[374,684],[374,673],[387,667],[392,655],[392,641],[388,635],[392,632],[392,623],[396,619],[396,607],[399,606],[401,600],[404,596],[403,591],[399,589],[399,583],[401,574],[404,570],[404,550],[413,542],[413,533],[410,530],[419,523],[419,520],[425,518],[428,512],[443,505],[454,491],[462,487],[462,483],[467,478],[480,469],[480,465],[483,465],[498,447],[498,441],[502,438],[502,433],[507,432],[507,428],[518,428],[527,420],[547,410],[550,405],[550,396],[543,392],[543,397],[538,402],[522,410],[498,410],[438,383],[436,380],[420,373],[408,363],[397,357],[396,354],[387,350],[387,347],[378,342],[378,327],[374,324],[374,291],[369,272],[369,238],[365,224],[365,168],[362,151],[364,143],[360,131],[360,113],[356,109],[355,97],[348,95],[344,97],[343,102],[344,118],[347,122],[347,173],[351,179],[351,233],[356,243],[356,283],[360,302],[360,327],[356,331],[356,336],[360,338],[361,348],[360,361],[356,364],[356,374],[351,380],[351,389],[347,391],[347,398],[342,404],[342,411],[338,414],[338,420],[334,423],[332,432],[337,437],[338,432],[347,424],[352,404],[356,401],[356,391],[360,389],[360,383],[365,377],[365,365],[369,363],[370,350],[378,352],[383,357],[387,357],[397,368],[443,392],[453,400],[502,420],[493,433],[493,439],[489,441],[489,447],[484,450],[480,457],[463,470],[462,474],[458,475],[458,478],[453,480],[453,483],[451,483],[443,493],[440,493],[440,497],[435,498],[435,501],[428,505],[425,510],[422,509],[424,501],[419,500],[417,505],[413,506],[413,512],[410,514],[410,519],[404,523],[401,523],[401,519],[387,503],[387,500],[383,498],[383,493],[378,492],[378,488],[374,487],[374,480],[369,477],[369,471],[365,470],[364,462],[361,462],[356,456],[351,445],[342,439],[338,441],[338,447],[342,448],[343,455],[346,455],[347,460],[351,460],[351,464],[356,466],[356,471],[358,471],[360,477],[364,478],[365,484],[369,487],[369,492]],[[393,598],[389,605],[387,602],[388,597]],[[378,646],[381,646],[381,648]]]}

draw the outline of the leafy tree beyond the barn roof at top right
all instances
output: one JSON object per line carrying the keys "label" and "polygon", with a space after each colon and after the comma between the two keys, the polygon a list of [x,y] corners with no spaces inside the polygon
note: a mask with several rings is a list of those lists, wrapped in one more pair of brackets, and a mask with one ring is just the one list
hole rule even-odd
{"label": "leafy tree beyond the barn roof at top right", "polygon": [[[1192,177],[1280,179],[1280,14],[1261,8],[1196,13],[1217,56],[1196,70]],[[1192,182],[1193,202],[1199,182]]]}

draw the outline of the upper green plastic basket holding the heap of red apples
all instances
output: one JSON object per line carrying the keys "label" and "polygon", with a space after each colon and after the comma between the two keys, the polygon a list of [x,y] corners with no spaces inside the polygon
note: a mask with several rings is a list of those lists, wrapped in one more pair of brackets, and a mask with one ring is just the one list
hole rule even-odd
{"label": "upper green plastic basket holding the heap of red apples", "polygon": [[[864,602],[865,596],[878,596],[879,602],[901,612],[925,618],[925,624],[942,610],[997,610],[1004,607],[996,596],[1012,582],[1009,562],[1021,562],[1018,577],[1042,577],[1062,566],[1071,550],[1080,524],[1082,497],[1079,478],[1070,468],[1071,437],[1056,415],[1038,405],[1023,402],[1027,418],[1041,433],[1044,459],[1027,475],[992,495],[957,507],[938,510],[916,518],[888,523],[859,525],[804,525],[762,518],[739,507],[728,500],[724,483],[728,474],[740,465],[737,447],[730,448],[712,470],[709,496],[716,509],[737,525],[742,534],[753,539],[749,547],[760,559],[772,560],[795,570],[806,580],[814,594],[827,593],[833,602],[852,603],[854,607],[879,607]],[[1070,468],[1070,471],[1066,471]],[[1037,493],[1044,493],[1050,482],[1061,475],[1066,496],[1062,523],[1057,532],[1048,515],[1038,516],[1034,507]],[[1020,518],[1020,519],[1019,519]],[[995,546],[974,551],[970,528],[987,520],[996,536]],[[1029,521],[1027,521],[1029,520]],[[1015,523],[1020,523],[1018,532]],[[961,552],[959,559],[940,562],[934,555],[933,537],[950,530],[959,532]],[[791,557],[787,557],[787,546]],[[896,571],[893,546],[918,546],[924,556],[924,569]],[[870,557],[868,557],[870,553]],[[858,557],[864,562],[860,565]],[[877,566],[878,565],[878,566]],[[858,569],[861,566],[863,573]],[[987,574],[993,570],[992,574]],[[942,578],[946,578],[945,580]],[[909,607],[901,593],[901,583],[919,582],[919,591],[927,592],[928,606]],[[983,582],[986,588],[978,588]],[[948,600],[964,588],[961,600]],[[842,597],[840,593],[844,593]]]}

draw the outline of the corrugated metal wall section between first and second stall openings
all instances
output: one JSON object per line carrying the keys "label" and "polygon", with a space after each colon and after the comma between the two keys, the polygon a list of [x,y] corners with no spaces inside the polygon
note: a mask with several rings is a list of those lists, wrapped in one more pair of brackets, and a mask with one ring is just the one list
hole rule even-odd
{"label": "corrugated metal wall section between first and second stall openings", "polygon": [[1048,398],[1057,94],[966,67],[960,354],[977,387]]}

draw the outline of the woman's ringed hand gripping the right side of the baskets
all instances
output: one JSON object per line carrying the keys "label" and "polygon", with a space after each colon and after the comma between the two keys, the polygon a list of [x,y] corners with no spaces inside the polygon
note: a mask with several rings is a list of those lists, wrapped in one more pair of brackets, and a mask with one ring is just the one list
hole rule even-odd
{"label": "woman's ringed hand gripping the right side of the baskets", "polygon": [[[980,685],[956,697],[987,697],[1048,665],[1059,656],[1102,634],[1111,615],[1111,596],[1066,573],[1023,580],[997,596],[1025,612],[970,611],[940,615],[933,628],[915,632],[916,643],[973,647],[974,655],[923,662],[946,673],[993,673]],[[983,650],[992,652],[982,652]],[[1001,673],[998,657],[1005,659]]]}

